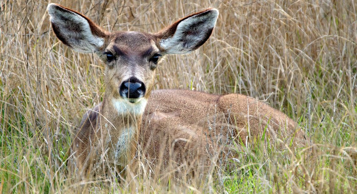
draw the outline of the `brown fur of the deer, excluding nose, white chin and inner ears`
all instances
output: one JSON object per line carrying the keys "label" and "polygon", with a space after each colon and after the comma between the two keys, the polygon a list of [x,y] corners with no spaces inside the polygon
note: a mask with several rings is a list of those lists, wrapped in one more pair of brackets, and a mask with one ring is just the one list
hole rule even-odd
{"label": "brown fur of the deer, excluding nose, white chin and inner ears", "polygon": [[[75,12],[62,6],[58,9]],[[279,133],[278,137],[295,136],[296,142],[303,143],[303,132],[296,129],[294,121],[257,99],[240,94],[220,96],[188,90],[151,92],[156,64],[150,62],[150,58],[155,53],[165,53],[159,41],[173,36],[183,20],[203,16],[210,11],[207,9],[187,16],[155,35],[141,32],[108,34],[75,12],[89,22],[95,36],[105,36],[103,48],[96,52],[101,60],[106,62],[104,52],[115,56],[114,61],[106,62],[103,102],[84,115],[75,132],[71,149],[82,172],[91,171],[91,168],[105,169],[108,166],[104,167],[104,164],[109,163],[110,168],[114,167],[120,173],[135,158],[138,143],[150,163],[161,164],[163,168],[169,165],[170,160],[180,165],[196,158],[200,160],[198,163],[208,165],[211,162],[208,157],[221,149],[214,141],[207,141],[208,138],[224,141],[232,138],[237,143],[246,144],[247,139],[260,138],[267,128],[267,134],[273,138]],[[52,27],[64,44],[74,44],[57,34],[59,26]],[[212,30],[202,36],[198,46],[208,39]],[[112,103],[114,99],[121,99],[118,88],[131,76],[145,83],[147,104],[144,114],[125,111],[118,114]],[[116,145],[120,139],[125,139],[123,134],[130,132],[133,134],[128,135],[127,142]]]}

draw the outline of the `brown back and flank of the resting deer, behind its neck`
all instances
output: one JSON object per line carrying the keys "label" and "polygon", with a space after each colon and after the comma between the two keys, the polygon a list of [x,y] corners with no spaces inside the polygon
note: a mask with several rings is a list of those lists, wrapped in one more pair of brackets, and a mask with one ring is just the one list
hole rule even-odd
{"label": "brown back and flank of the resting deer, behind its neck", "polygon": [[[210,150],[215,145],[207,141],[207,137],[223,135],[226,139],[226,134],[230,134],[237,143],[246,144],[247,137],[261,138],[267,127],[267,134],[273,137],[280,133],[278,137],[291,139],[295,136],[296,143],[305,142],[303,132],[296,129],[296,122],[257,99],[240,94],[220,96],[188,90],[154,91],[147,103],[143,123],[146,126],[143,124],[142,139],[139,141],[146,148],[148,158],[154,159],[159,159],[155,150],[160,150],[163,134],[169,135],[172,140],[166,146],[170,146],[175,139],[190,139],[191,143],[181,142],[181,146],[188,148],[188,153],[195,153],[200,148],[195,156],[205,159],[216,151]],[[165,150],[164,160],[169,160],[171,153],[169,149]]]}

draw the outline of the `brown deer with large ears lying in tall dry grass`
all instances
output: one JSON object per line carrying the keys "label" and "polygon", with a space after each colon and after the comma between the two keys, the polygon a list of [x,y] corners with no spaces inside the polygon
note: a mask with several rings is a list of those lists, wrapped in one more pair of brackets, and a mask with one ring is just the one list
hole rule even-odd
{"label": "brown deer with large ears lying in tall dry grass", "polygon": [[49,4],[47,11],[52,30],[63,44],[77,52],[94,53],[105,63],[103,100],[84,114],[72,138],[77,169],[87,172],[95,163],[106,161],[121,172],[136,158],[140,146],[148,158],[161,157],[164,167],[170,159],[180,164],[190,155],[205,163],[210,152],[218,149],[207,141],[212,136],[224,135],[226,140],[247,145],[266,131],[272,138],[304,141],[295,121],[256,98],[152,90],[156,68],[165,56],[191,53],[208,40],[217,9],[188,15],[154,34],[107,32],[59,4]]}

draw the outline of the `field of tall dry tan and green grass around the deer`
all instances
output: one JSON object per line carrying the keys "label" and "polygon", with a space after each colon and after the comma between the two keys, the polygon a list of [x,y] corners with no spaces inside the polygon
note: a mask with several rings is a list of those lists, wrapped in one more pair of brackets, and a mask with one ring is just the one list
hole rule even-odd
{"label": "field of tall dry tan and green grass around the deer", "polygon": [[[210,39],[157,68],[154,90],[242,93],[286,113],[303,148],[242,146],[231,172],[161,183],[67,176],[71,131],[102,99],[104,65],[55,37],[47,1],[0,1],[0,193],[356,193],[357,1],[58,1],[107,31],[157,32],[207,7]],[[218,170],[217,170],[218,169]],[[106,185],[110,185],[107,187]],[[133,186],[134,185],[134,186]],[[80,189],[78,189],[80,188]]]}

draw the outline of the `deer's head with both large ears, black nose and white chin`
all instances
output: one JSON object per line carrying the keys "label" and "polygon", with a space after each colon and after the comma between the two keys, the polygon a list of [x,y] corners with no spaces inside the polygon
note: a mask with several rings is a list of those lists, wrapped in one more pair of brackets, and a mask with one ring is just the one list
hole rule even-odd
{"label": "deer's head with both large ears, black nose and white chin", "polygon": [[72,50],[95,53],[105,67],[105,99],[119,112],[142,114],[154,85],[157,64],[165,55],[187,54],[207,41],[218,10],[207,9],[166,27],[156,34],[107,32],[88,17],[58,4],[49,4],[52,29]]}

